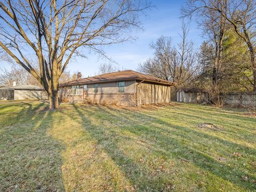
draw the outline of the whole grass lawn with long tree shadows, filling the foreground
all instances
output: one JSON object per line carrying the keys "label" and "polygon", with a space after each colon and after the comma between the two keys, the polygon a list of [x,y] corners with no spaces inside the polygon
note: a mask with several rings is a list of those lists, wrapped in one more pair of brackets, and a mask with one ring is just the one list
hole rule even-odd
{"label": "whole grass lawn with long tree shadows, filling the foreground", "polygon": [[0,191],[256,190],[256,118],[242,110],[46,108],[0,102]]}

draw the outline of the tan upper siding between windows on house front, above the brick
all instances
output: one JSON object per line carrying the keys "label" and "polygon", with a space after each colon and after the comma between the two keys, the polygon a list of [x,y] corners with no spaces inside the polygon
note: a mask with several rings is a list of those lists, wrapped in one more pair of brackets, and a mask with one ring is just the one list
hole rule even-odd
{"label": "tan upper siding between windows on house front, above the brick", "polygon": [[[98,93],[118,93],[118,82],[98,83]],[[94,93],[93,84],[87,85],[87,93]],[[135,80],[125,81],[125,93],[135,93]]]}

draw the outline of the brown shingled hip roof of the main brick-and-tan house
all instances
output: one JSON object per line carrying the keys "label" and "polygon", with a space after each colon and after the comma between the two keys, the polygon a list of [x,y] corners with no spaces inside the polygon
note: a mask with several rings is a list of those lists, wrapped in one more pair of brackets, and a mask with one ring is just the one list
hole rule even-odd
{"label": "brown shingled hip roof of the main brick-and-tan house", "polygon": [[90,84],[90,83],[101,83],[101,82],[113,82],[113,81],[125,81],[125,80],[139,80],[145,82],[153,82],[165,85],[175,85],[175,83],[166,81],[161,78],[153,77],[150,75],[145,75],[133,70],[123,70],[113,73],[107,73],[102,75],[97,75],[94,77],[82,78],[80,80],[70,81],[67,83],[60,84],[60,86],[68,85],[81,85],[81,84]]}

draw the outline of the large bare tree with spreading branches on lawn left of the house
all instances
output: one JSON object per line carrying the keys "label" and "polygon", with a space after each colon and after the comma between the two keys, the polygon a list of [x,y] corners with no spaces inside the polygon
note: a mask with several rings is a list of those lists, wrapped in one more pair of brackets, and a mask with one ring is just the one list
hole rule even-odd
{"label": "large bare tree with spreading branches on lawn left of the house", "polygon": [[[149,7],[133,0],[0,1],[0,47],[25,68],[58,108],[59,78],[82,47],[100,54],[102,45],[124,42]],[[37,72],[28,58],[38,61]]]}

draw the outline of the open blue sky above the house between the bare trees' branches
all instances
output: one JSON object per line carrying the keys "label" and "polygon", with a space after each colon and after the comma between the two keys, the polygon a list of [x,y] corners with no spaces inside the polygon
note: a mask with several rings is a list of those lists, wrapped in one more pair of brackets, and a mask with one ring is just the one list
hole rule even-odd
{"label": "open blue sky above the house between the bare trees' branches", "polygon": [[[124,42],[105,46],[104,50],[108,57],[114,60],[119,69],[137,69],[139,63],[143,63],[152,57],[153,50],[149,43],[155,42],[161,35],[171,36],[173,43],[180,41],[181,33],[180,8],[184,1],[175,0],[152,0],[156,8],[147,11],[147,18],[142,18],[143,31],[133,31],[137,39],[133,42]],[[189,38],[197,45],[202,42],[201,31],[197,28],[196,22],[190,23]],[[86,50],[85,50],[86,51]],[[87,51],[86,51],[87,52]],[[107,63],[105,59],[99,59],[97,54],[91,52],[87,58],[76,58],[68,65],[67,70],[71,73],[81,71],[83,77],[94,76],[98,73],[99,65]],[[6,63],[2,63],[4,67]]]}

